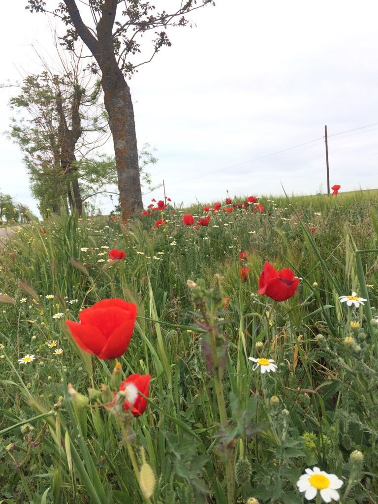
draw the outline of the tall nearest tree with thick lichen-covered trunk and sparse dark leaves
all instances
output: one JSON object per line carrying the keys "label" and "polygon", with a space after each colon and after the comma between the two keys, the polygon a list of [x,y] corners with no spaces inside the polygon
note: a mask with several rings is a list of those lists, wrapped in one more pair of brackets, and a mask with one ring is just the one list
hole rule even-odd
{"label": "tall nearest tree with thick lichen-covered trunk and sparse dark leaves", "polygon": [[[91,68],[101,73],[104,104],[113,136],[122,217],[130,218],[143,204],[134,108],[125,76],[151,61],[161,47],[171,45],[165,32],[167,27],[186,26],[189,24],[185,18],[187,13],[214,5],[214,1],[180,1],[179,7],[171,13],[164,10],[158,13],[155,6],[143,0],[88,0],[80,3],[81,11],[77,0],[63,0],[54,11],[45,9],[44,0],[27,2],[26,8],[31,12],[53,14],[68,26],[62,37],[68,49],[74,50],[80,37],[95,59]],[[92,26],[87,25],[85,19],[92,19]],[[130,61],[129,57],[141,52],[140,38],[151,30],[155,38],[150,56],[139,62]]]}

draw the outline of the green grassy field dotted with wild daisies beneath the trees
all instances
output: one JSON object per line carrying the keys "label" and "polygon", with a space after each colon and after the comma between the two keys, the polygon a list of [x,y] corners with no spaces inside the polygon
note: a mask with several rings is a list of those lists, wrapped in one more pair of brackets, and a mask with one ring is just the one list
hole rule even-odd
{"label": "green grassy field dotted with wild daisies beneath the trees", "polygon": [[[51,216],[7,242],[0,503],[378,502],[378,191],[245,200]],[[266,262],[300,278],[287,300],[257,293]],[[66,321],[113,298],[135,329],[100,358]],[[136,374],[144,396],[119,392]]]}

